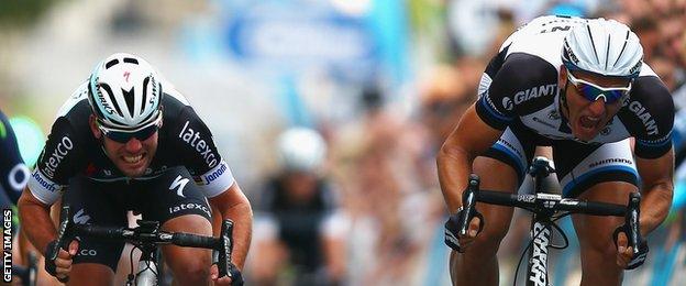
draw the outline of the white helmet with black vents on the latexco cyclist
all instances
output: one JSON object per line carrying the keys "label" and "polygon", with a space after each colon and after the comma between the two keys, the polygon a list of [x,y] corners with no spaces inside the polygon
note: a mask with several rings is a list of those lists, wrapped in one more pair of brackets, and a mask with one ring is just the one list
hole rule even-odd
{"label": "white helmet with black vents on the latexco cyclist", "polygon": [[162,85],[145,59],[117,53],[100,62],[88,82],[88,101],[100,124],[135,130],[162,117]]}

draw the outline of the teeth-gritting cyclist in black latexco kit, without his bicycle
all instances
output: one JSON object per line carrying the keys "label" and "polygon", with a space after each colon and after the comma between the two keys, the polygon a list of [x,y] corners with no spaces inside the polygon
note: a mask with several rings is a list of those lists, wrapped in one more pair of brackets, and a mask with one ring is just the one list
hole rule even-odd
{"label": "teeth-gritting cyclist in black latexco kit, without his bicycle", "polygon": [[163,246],[163,257],[180,285],[242,284],[250,202],[207,125],[139,56],[104,58],[69,97],[19,201],[31,242],[48,257],[58,253],[46,260],[48,273],[74,285],[112,284],[123,242],[80,238],[66,251],[56,246],[48,210],[59,197],[76,223],[123,227],[133,210],[163,230],[203,235],[212,235],[212,205],[235,222],[233,280],[218,277],[209,250]]}

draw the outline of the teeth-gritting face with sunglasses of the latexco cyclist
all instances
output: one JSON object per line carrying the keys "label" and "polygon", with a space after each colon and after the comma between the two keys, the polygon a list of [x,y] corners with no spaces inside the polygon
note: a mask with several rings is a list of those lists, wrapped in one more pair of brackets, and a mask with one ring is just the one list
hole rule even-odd
{"label": "teeth-gritting face with sunglasses of the latexco cyclist", "polygon": [[102,147],[107,156],[128,177],[140,177],[153,161],[157,151],[157,133],[154,132],[147,139],[131,138],[126,143],[111,140],[97,128],[92,128],[96,138],[102,136]]}

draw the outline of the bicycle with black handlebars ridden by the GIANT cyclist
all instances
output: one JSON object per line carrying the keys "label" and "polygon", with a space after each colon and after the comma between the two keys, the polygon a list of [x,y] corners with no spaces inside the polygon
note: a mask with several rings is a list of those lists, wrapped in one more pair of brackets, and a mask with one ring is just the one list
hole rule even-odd
{"label": "bicycle with black handlebars ridden by the GIANT cyclist", "polygon": [[[573,198],[563,198],[557,194],[545,193],[543,188],[543,179],[554,173],[550,162],[544,157],[533,160],[529,174],[534,179],[533,195],[514,195],[502,191],[479,190],[479,178],[476,175],[469,176],[469,184],[463,194],[464,210],[473,210],[476,208],[476,201],[490,205],[517,207],[531,211],[531,231],[532,246],[530,248],[529,261],[527,266],[527,286],[547,286],[550,284],[547,277],[547,254],[551,246],[553,231],[553,216],[560,211],[568,213],[584,213],[591,216],[615,216],[624,217],[630,233],[629,245],[633,246],[634,254],[638,253],[638,245],[641,241],[639,224],[639,205],[641,195],[632,193],[629,195],[628,206],[585,201]],[[471,211],[463,211],[460,221],[471,221]],[[466,233],[468,223],[462,224],[461,233]],[[562,232],[562,230],[558,229]]]}

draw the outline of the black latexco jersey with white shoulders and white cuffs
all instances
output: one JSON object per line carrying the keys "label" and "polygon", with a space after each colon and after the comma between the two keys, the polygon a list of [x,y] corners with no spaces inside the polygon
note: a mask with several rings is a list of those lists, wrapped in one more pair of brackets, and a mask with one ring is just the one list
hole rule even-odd
{"label": "black latexco jersey with white shoulders and white cuffs", "polygon": [[[184,166],[207,197],[223,193],[233,184],[233,176],[210,130],[172,85],[163,81],[163,90],[157,152],[145,174],[134,179],[154,178],[168,168]],[[92,112],[87,92],[85,82],[60,108],[29,182],[32,194],[45,204],[53,204],[77,175],[104,183],[129,179],[108,158],[90,130]]]}

